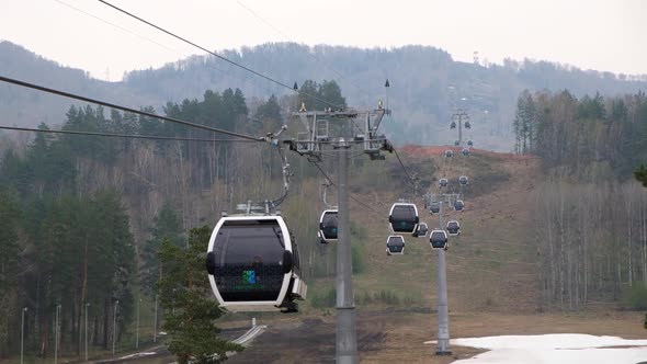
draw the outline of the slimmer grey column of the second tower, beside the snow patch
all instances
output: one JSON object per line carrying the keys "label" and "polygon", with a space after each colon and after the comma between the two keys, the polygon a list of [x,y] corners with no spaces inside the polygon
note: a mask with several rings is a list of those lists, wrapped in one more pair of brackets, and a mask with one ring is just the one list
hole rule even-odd
{"label": "slimmer grey column of the second tower, beside the snow patch", "polygon": [[[444,195],[443,195],[444,197]],[[444,229],[443,201],[440,201],[439,224]],[[445,250],[438,250],[438,348],[436,355],[451,355],[450,350],[450,314],[447,308],[447,270]]]}

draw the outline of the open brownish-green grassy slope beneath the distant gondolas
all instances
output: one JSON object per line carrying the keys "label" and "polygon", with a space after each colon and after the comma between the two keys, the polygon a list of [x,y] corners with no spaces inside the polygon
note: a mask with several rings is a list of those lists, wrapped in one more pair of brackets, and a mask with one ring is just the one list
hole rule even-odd
{"label": "open brownish-green grassy slope beneath the distant gondolas", "polygon": [[[445,221],[456,218],[463,228],[462,236],[452,239],[447,254],[452,310],[533,310],[537,298],[533,262],[536,249],[533,236],[527,234],[527,192],[533,185],[536,161],[477,153],[470,158],[455,158],[445,166],[438,153],[415,151],[407,156],[407,161],[436,166],[431,180],[441,177],[455,180],[461,174],[472,180],[472,185],[465,190],[466,211],[445,214]],[[431,192],[438,192],[435,184]],[[436,253],[431,251],[428,239],[409,237],[406,255],[387,257],[384,251],[388,235],[386,212],[398,195],[390,193],[382,198],[387,202],[378,206],[385,211],[384,216],[366,214],[363,207],[353,204],[353,220],[368,232],[362,239],[367,271],[355,277],[355,297],[362,297],[364,292],[387,289],[402,299],[412,298],[408,299],[408,306],[433,307]],[[416,202],[422,212],[421,220],[430,227],[438,226],[438,217],[424,212],[420,201]]]}

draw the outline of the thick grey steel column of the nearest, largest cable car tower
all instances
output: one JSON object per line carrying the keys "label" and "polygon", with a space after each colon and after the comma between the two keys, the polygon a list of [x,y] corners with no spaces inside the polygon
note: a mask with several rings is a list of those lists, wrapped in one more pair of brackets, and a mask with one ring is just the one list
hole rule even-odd
{"label": "thick grey steel column of the nearest, largest cable car tower", "polygon": [[350,144],[339,138],[337,196],[339,208],[339,240],[337,247],[337,343],[338,364],[357,363],[356,312],[353,297],[353,266],[349,211],[349,150]]}

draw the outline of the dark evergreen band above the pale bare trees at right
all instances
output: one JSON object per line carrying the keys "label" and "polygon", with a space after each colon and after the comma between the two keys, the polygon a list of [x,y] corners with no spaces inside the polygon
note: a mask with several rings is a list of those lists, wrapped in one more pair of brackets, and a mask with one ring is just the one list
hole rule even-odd
{"label": "dark evergreen band above the pale bare trees at right", "polygon": [[587,179],[628,178],[647,160],[647,96],[577,99],[567,90],[526,90],[518,98],[513,129],[517,152],[540,156],[548,168]]}

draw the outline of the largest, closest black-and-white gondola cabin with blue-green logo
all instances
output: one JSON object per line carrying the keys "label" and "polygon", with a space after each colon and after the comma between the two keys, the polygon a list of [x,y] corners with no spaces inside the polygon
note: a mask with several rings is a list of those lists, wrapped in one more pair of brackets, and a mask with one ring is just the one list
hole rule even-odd
{"label": "largest, closest black-and-white gondola cabin with blue-green logo", "polygon": [[295,300],[306,298],[298,248],[281,216],[222,217],[206,269],[224,310],[296,312]]}

